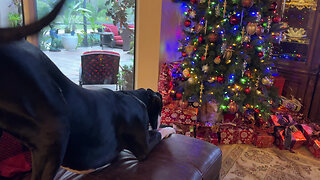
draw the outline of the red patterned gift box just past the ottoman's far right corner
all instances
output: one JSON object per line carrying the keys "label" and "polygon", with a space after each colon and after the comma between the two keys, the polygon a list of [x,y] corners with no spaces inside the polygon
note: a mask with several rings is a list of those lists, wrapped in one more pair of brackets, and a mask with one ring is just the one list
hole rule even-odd
{"label": "red patterned gift box just past the ottoman's far right corner", "polygon": [[238,137],[238,128],[234,123],[223,123],[220,125],[220,144],[235,144]]}

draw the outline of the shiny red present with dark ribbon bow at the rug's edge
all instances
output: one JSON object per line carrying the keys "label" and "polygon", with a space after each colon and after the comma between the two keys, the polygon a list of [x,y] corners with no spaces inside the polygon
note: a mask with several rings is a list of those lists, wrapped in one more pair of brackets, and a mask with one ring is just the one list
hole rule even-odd
{"label": "shiny red present with dark ribbon bow at the rug's edge", "polygon": [[303,133],[297,128],[298,124],[290,115],[271,115],[270,117],[279,149],[298,149],[306,142]]}

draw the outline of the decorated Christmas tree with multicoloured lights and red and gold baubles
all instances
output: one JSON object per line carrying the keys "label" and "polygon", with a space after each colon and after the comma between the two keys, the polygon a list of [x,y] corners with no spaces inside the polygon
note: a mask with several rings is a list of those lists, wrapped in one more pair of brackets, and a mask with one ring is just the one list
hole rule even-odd
{"label": "decorated Christmas tree with multicoloured lights and red and gold baubles", "polygon": [[266,119],[278,102],[273,44],[287,28],[270,0],[184,1],[181,82],[175,93],[220,111]]}

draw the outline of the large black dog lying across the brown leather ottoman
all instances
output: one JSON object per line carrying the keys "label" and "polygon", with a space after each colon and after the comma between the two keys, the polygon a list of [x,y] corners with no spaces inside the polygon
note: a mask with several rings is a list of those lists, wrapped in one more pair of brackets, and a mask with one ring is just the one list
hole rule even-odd
{"label": "large black dog lying across the brown leather ottoman", "polygon": [[[41,27],[35,25],[23,34]],[[83,89],[37,47],[9,42],[15,34],[6,35],[0,35],[0,129],[31,150],[31,179],[53,179],[60,165],[96,169],[122,149],[143,160],[159,143],[161,134],[155,130],[162,108],[159,94]],[[148,130],[149,123],[153,130]]]}

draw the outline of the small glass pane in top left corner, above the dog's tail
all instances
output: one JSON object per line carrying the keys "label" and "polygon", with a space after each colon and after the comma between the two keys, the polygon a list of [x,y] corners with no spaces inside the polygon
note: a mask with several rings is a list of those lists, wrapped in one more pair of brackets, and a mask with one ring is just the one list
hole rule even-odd
{"label": "small glass pane in top left corner, above the dog's tail", "polygon": [[15,27],[23,23],[21,0],[0,1],[0,27]]}

